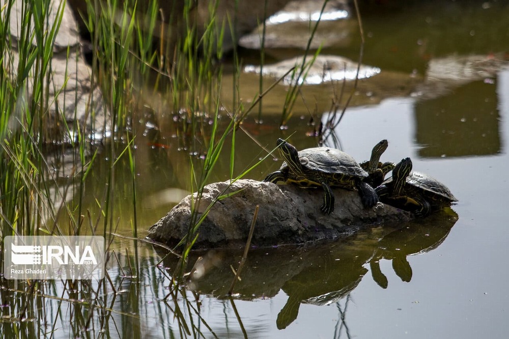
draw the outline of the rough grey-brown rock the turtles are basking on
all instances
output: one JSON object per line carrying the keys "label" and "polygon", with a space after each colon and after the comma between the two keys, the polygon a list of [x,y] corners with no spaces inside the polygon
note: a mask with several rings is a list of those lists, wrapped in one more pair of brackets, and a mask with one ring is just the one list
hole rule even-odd
{"label": "rough grey-brown rock the turtles are basking on", "polygon": [[[253,212],[260,206],[251,244],[274,246],[337,238],[382,222],[412,219],[409,213],[378,203],[364,209],[356,191],[333,189],[335,209],[330,215],[320,211],[321,188],[276,185],[255,180],[218,182],[205,186],[197,206],[198,218],[220,195],[237,192],[219,200],[210,209],[199,229],[194,248],[242,247],[245,245]],[[148,238],[175,246],[191,224],[191,202],[186,196],[154,224]]]}

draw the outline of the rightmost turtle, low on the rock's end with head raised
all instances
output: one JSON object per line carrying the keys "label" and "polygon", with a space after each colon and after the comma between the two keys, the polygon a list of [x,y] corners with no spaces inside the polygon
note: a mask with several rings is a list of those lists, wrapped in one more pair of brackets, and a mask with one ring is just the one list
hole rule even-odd
{"label": "rightmost turtle, low on the rock's end with head raised", "polygon": [[412,171],[412,160],[404,158],[395,165],[392,177],[375,191],[380,201],[426,217],[458,200],[440,181],[420,172]]}

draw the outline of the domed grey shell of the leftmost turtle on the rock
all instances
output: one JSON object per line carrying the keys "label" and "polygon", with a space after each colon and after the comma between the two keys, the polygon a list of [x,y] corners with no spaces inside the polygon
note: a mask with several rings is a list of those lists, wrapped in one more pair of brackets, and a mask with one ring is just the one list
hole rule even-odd
{"label": "domed grey shell of the leftmost turtle on the rock", "polygon": [[[307,148],[299,151],[299,160],[302,166],[308,170],[324,174],[339,173],[356,178],[366,178],[369,175],[351,155],[335,148]],[[288,164],[285,161],[282,163],[280,170],[286,167],[288,167]]]}

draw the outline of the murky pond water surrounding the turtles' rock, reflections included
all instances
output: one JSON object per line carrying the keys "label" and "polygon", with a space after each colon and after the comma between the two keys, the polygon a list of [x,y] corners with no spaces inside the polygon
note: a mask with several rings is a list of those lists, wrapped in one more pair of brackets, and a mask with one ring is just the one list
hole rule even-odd
{"label": "murky pond water surrounding the turtles' rock, reflections included", "polygon": [[[414,169],[445,183],[459,202],[451,209],[405,225],[378,225],[341,241],[250,250],[233,299],[225,295],[242,250],[194,253],[214,263],[193,280],[189,290],[168,297],[174,256],[159,264],[163,252],[139,243],[139,282],[118,264],[109,268],[116,286],[109,298],[111,317],[92,336],[179,337],[194,325],[204,337],[270,338],[503,338],[509,333],[509,5],[506,2],[411,2],[398,8],[361,8],[366,44],[363,63],[381,69],[359,82],[353,106],[334,130],[336,145],[357,160],[369,157],[379,140],[389,140],[382,160],[411,157]],[[365,13],[365,14],[364,14]],[[327,46],[324,53],[358,58],[355,18],[348,43]],[[327,23],[328,30],[332,29]],[[243,50],[256,63],[258,51]],[[270,58],[291,58],[302,51],[272,49]],[[505,65],[505,66],[504,66]],[[378,80],[377,80],[378,77]],[[223,81],[227,87],[229,75]],[[258,76],[241,75],[241,97],[258,91]],[[267,81],[267,83],[270,83]],[[306,136],[309,111],[326,121],[331,85],[303,88],[287,129],[279,128],[287,87],[264,98],[264,123],[250,117],[243,125],[269,149],[289,137],[298,149],[315,147]],[[230,89],[224,90],[227,102]],[[230,98],[231,99],[231,98]],[[314,100],[317,100],[315,105]],[[169,119],[167,117],[167,119]],[[320,118],[319,118],[320,119]],[[189,193],[191,166],[172,126],[139,135],[135,179],[138,233],[144,236],[159,218]],[[265,155],[251,137],[237,136],[235,170]],[[241,145],[241,147],[239,147]],[[226,150],[211,181],[229,178]],[[193,160],[199,163],[198,159]],[[261,180],[280,165],[267,159],[248,178]],[[98,213],[108,162],[98,159],[87,178],[84,208]],[[119,192],[114,201],[117,233],[130,235],[132,205],[129,164],[117,165]],[[117,243],[120,262],[125,248]],[[126,266],[122,265],[126,270]],[[93,287],[96,288],[96,287]],[[59,294],[59,293],[56,293]],[[195,300],[199,302],[196,302]],[[181,313],[182,317],[175,316]],[[48,322],[60,316],[48,310]],[[52,316],[51,316],[52,315]],[[63,336],[77,320],[58,323]],[[74,324],[74,325],[73,325]],[[180,325],[179,325],[180,324]],[[193,330],[190,329],[192,332]],[[5,332],[7,333],[7,332]],[[109,333],[109,334],[108,334]],[[7,335],[7,334],[6,334]],[[58,337],[60,334],[55,334]]]}

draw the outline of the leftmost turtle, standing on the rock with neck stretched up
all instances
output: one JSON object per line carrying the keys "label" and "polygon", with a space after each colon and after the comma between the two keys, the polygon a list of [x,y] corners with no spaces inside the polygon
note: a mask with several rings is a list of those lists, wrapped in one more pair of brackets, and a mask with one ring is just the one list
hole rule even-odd
{"label": "leftmost turtle, standing on the rock with neck stretched up", "polygon": [[362,205],[373,207],[378,202],[375,189],[363,180],[369,175],[355,159],[338,149],[329,147],[308,148],[302,151],[277,139],[277,147],[285,159],[278,171],[272,172],[263,180],[277,183],[278,181],[302,187],[322,187],[324,203],[320,209],[327,214],[334,210],[334,194],[331,186],[348,190],[357,189]]}

